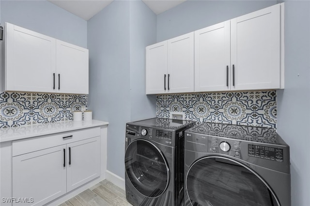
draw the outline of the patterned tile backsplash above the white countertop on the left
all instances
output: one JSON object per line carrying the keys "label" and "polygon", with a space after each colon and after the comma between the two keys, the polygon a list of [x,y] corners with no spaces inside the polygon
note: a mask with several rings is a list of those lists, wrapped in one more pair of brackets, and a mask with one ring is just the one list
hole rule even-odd
{"label": "patterned tile backsplash above the white countertop on the left", "polygon": [[87,102],[88,95],[2,92],[0,128],[72,120]]}

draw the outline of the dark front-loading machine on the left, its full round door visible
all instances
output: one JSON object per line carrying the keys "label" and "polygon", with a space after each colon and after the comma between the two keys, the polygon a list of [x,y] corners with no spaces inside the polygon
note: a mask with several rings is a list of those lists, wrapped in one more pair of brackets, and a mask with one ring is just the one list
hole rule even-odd
{"label": "dark front-loading machine on the left, its full round door visible", "polygon": [[193,121],[151,118],[126,124],[125,192],[134,206],[179,206],[184,133]]}

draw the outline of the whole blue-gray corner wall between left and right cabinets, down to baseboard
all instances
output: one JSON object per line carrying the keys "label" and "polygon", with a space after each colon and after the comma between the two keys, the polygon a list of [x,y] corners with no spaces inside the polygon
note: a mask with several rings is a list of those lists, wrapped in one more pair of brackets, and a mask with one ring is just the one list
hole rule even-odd
{"label": "whole blue-gray corner wall between left and right cabinets, down to baseboard", "polygon": [[113,1],[88,21],[89,109],[109,121],[107,169],[123,178],[126,122],[155,117],[155,96],[145,95],[145,46],[155,29],[142,1]]}

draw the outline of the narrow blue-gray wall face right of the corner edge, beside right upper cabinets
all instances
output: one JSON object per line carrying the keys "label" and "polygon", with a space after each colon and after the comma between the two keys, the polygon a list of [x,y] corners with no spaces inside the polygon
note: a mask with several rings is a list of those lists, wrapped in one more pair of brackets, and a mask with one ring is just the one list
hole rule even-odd
{"label": "narrow blue-gray wall face right of the corner edge, beside right upper cabinets", "polygon": [[145,47],[156,43],[156,15],[141,1],[130,2],[131,121],[153,118],[156,95],[145,95]]}

